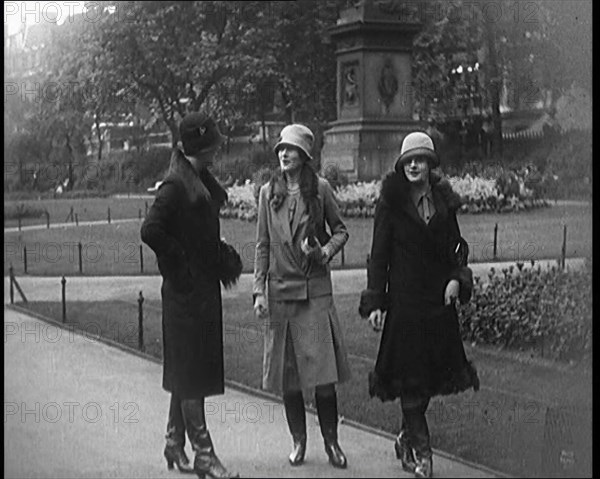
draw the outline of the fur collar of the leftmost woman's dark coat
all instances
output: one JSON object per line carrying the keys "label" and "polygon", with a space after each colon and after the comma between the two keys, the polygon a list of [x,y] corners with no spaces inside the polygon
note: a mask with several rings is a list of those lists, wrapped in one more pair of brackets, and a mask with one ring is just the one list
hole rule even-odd
{"label": "fur collar of the leftmost woman's dark coat", "polygon": [[176,179],[181,182],[191,203],[212,199],[221,206],[227,201],[227,192],[217,179],[208,170],[198,174],[179,148],[175,148],[171,155],[171,163],[165,181],[167,179]]}

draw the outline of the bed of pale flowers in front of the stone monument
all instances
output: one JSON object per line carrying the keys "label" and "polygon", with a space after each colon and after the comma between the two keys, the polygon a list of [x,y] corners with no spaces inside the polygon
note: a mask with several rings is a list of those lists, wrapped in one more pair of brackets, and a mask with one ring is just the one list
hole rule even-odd
{"label": "bed of pale flowers in front of the stone monument", "polygon": [[[503,173],[498,179],[473,177],[449,177],[452,188],[462,197],[461,213],[498,212],[507,213],[548,206],[533,189],[514,173]],[[336,196],[343,216],[371,218],[379,198],[381,182],[358,182],[340,186]],[[229,201],[221,211],[224,218],[256,219],[255,188],[250,180],[243,185],[228,189]]]}

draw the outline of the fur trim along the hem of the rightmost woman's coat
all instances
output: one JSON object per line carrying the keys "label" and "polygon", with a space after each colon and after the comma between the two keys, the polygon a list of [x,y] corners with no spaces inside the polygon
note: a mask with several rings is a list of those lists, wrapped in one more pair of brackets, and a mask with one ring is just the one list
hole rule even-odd
{"label": "fur trim along the hem of the rightmost woman's coat", "polygon": [[382,402],[393,401],[402,395],[432,398],[434,396],[458,394],[470,388],[479,391],[479,385],[477,369],[471,361],[467,361],[465,367],[460,372],[455,373],[453,377],[429,388],[418,384],[409,386],[403,384],[400,379],[393,379],[388,382],[384,381],[375,371],[369,373],[369,396],[377,397]]}

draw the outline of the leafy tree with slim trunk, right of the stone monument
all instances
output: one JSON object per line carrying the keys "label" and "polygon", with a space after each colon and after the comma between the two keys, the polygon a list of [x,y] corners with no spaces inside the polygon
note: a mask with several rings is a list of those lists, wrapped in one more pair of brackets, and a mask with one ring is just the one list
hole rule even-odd
{"label": "leafy tree with slim trunk, right of the stone monument", "polygon": [[485,91],[482,106],[491,112],[494,143],[502,154],[500,95],[512,90],[515,108],[531,107],[545,89],[565,85],[556,12],[547,2],[512,0],[468,2],[426,0],[424,28],[415,38],[414,72],[422,115],[432,113],[433,99],[451,112],[463,87],[449,72],[459,63],[479,63],[478,81]]}

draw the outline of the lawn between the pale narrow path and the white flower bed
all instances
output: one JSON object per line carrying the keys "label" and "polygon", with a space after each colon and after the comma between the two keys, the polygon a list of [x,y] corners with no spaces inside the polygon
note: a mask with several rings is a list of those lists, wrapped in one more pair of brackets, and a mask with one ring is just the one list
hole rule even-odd
{"label": "lawn between the pale narrow path and the white flower bed", "polygon": [[[89,200],[88,200],[89,201]],[[116,200],[115,200],[116,201]],[[118,200],[137,211],[134,200]],[[129,203],[131,201],[132,203]],[[143,205],[144,200],[136,200]],[[139,203],[138,203],[139,204]],[[111,209],[111,215],[112,215]],[[137,215],[137,213],[136,213]],[[135,215],[134,215],[135,216]],[[494,226],[498,224],[497,259],[527,261],[558,258],[567,225],[567,257],[592,254],[592,207],[556,205],[510,214],[460,215],[462,235],[470,244],[470,262],[493,260]],[[72,275],[79,272],[78,243],[82,244],[82,270],[89,275],[129,275],[141,272],[140,220],[127,223],[81,225],[4,234],[4,270],[12,263],[24,271],[23,247],[27,248],[27,272],[35,275]],[[363,268],[371,248],[372,219],[346,219],[350,239],[333,268]],[[221,232],[242,256],[244,271],[253,269],[256,223],[227,219]],[[154,253],[142,246],[144,273],[157,274]]]}

